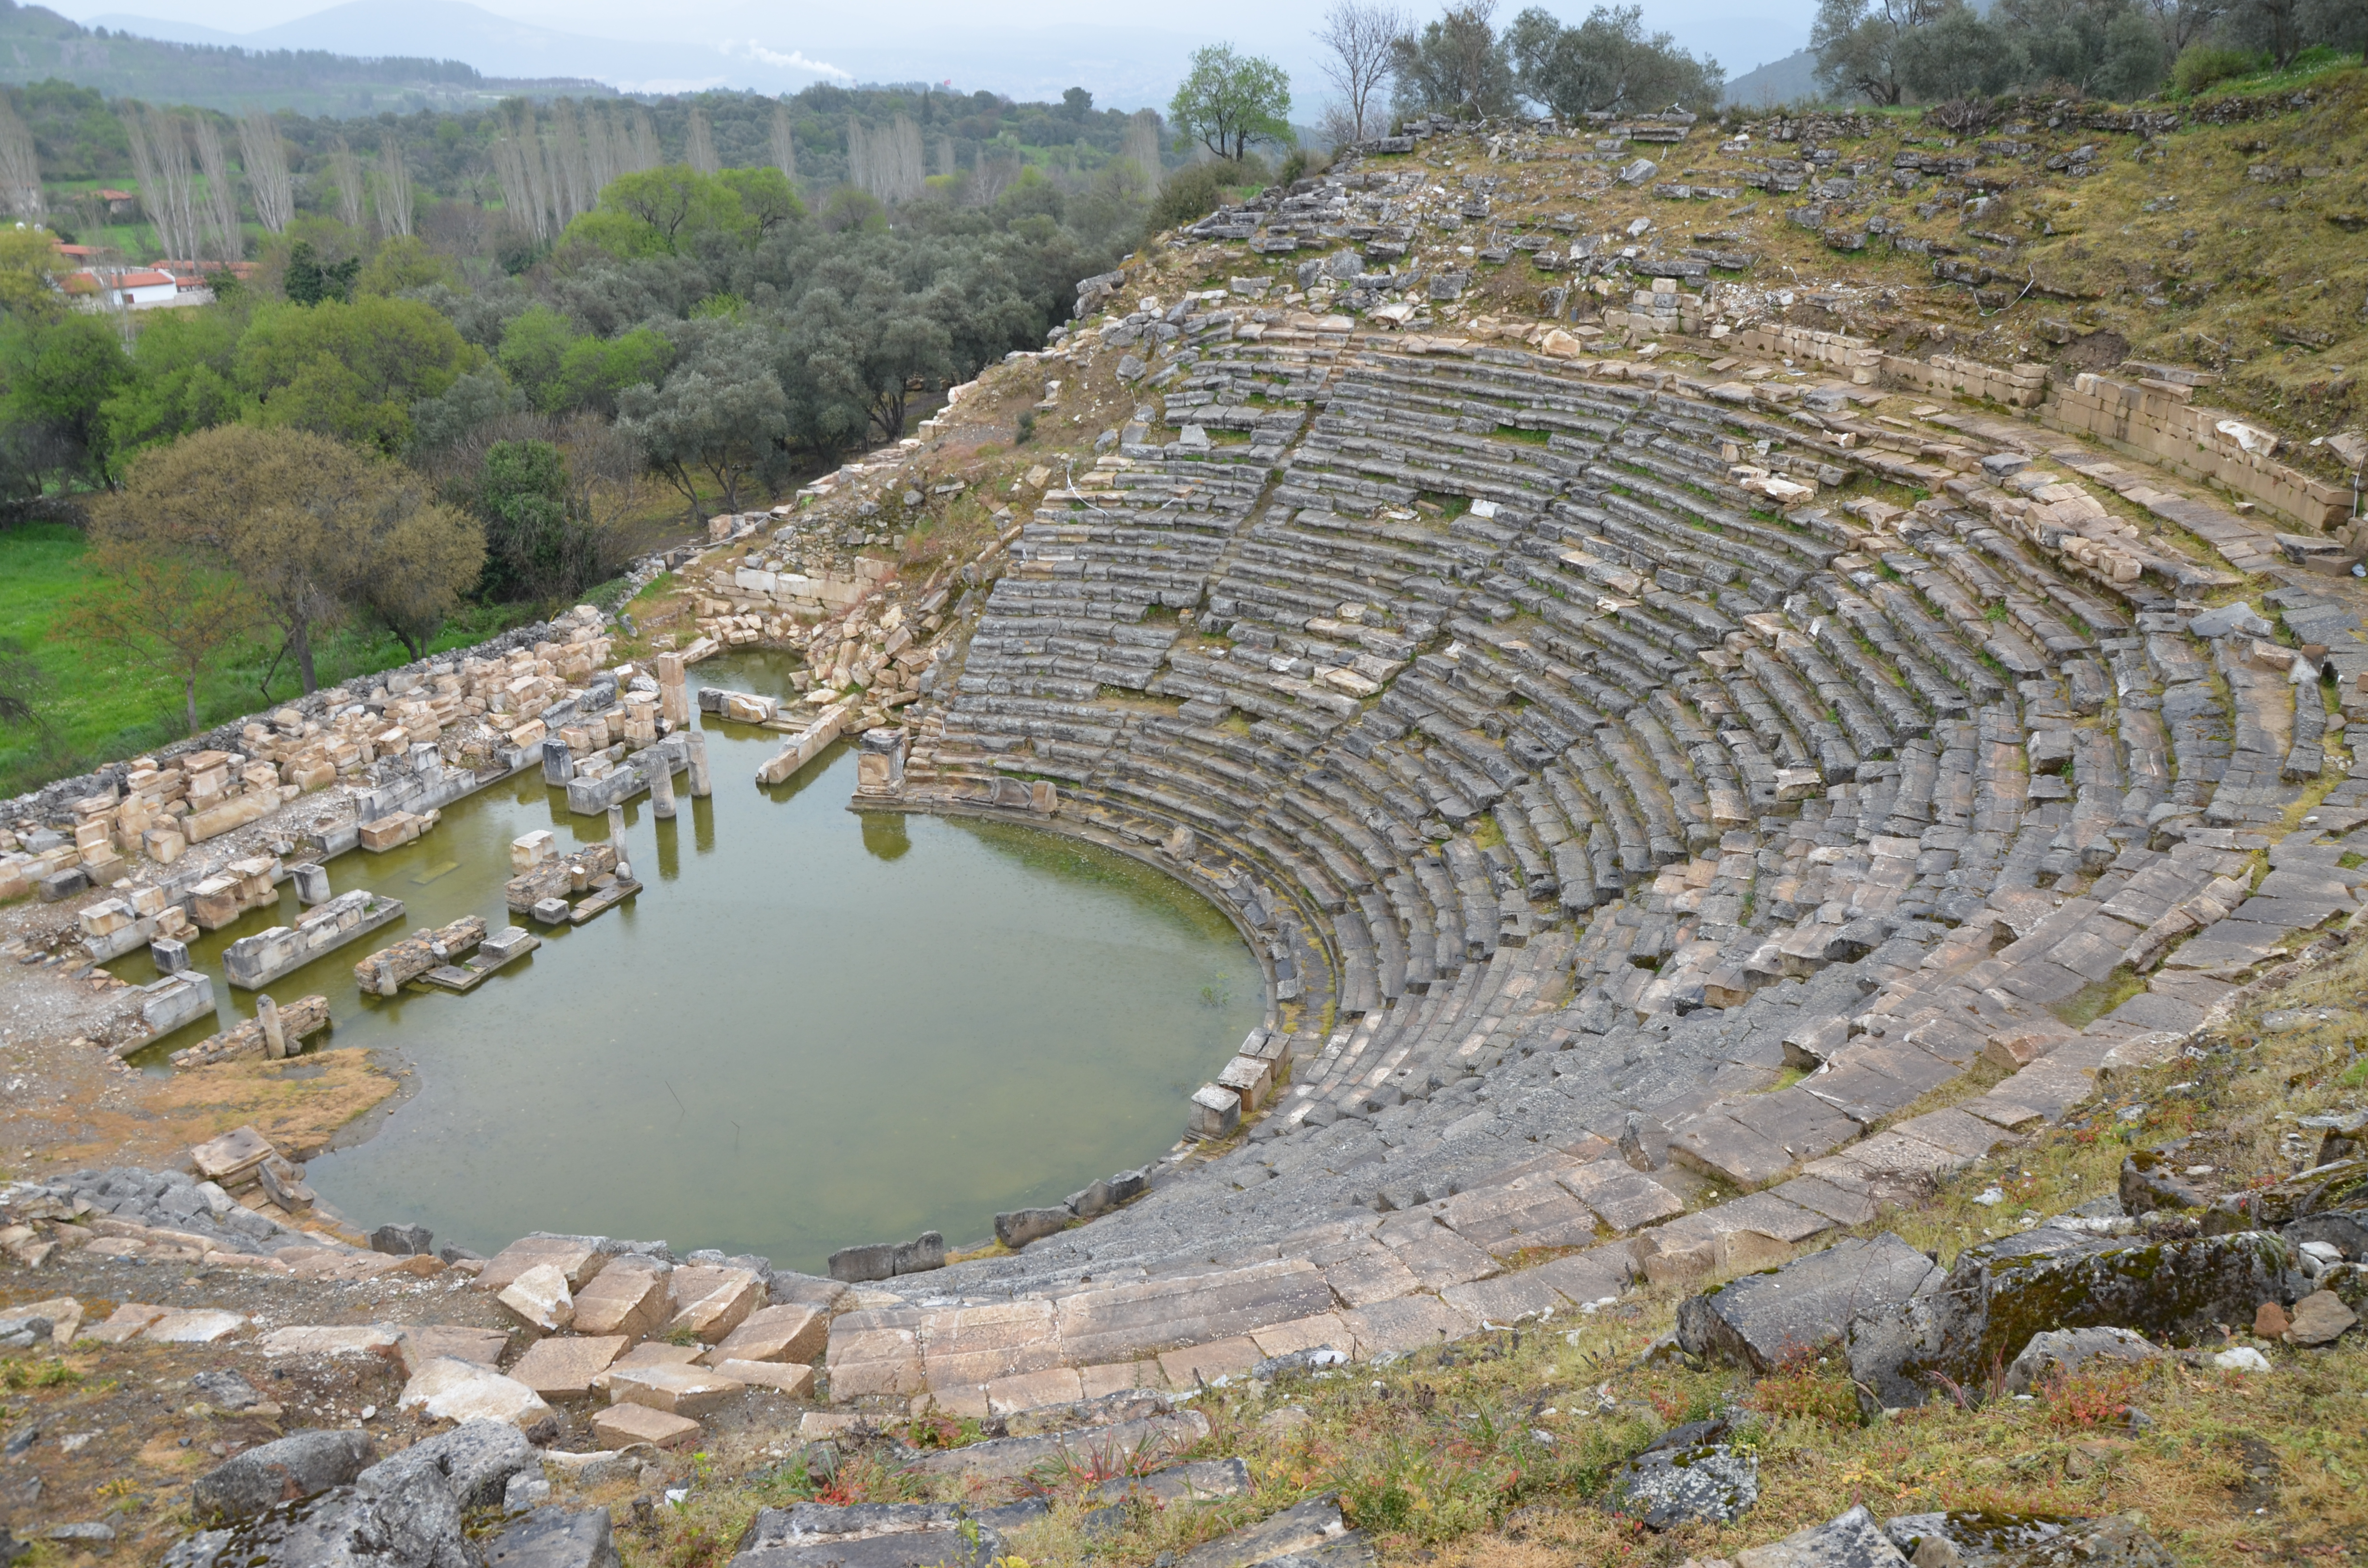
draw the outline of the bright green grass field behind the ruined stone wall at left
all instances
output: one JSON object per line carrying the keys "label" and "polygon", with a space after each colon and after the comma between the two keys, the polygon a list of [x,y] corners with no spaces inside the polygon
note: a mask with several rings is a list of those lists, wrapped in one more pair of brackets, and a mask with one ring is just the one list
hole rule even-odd
{"label": "bright green grass field behind the ruined stone wall at left", "polygon": [[[73,597],[95,583],[78,528],[24,523],[0,531],[0,637],[14,640],[40,670],[31,694],[38,725],[0,730],[0,796],[163,746],[185,730],[180,682],[170,673],[64,632]],[[530,618],[533,606],[523,604],[469,604],[429,651],[469,647]],[[199,720],[220,725],[298,696],[296,663],[282,658],[272,668],[277,649],[270,630],[230,649],[197,687]],[[398,663],[410,663],[410,654],[377,628],[346,625],[315,640],[324,687]]]}

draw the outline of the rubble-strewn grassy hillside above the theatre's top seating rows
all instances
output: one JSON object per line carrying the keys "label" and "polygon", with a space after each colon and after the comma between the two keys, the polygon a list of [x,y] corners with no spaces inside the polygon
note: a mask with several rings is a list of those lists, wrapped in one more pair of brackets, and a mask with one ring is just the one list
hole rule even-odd
{"label": "rubble-strewn grassy hillside above the theatre's top seating rows", "polygon": [[[1748,256],[1740,270],[1714,261],[1710,277],[1764,313],[1892,353],[2067,372],[2124,358],[2202,365],[2226,377],[2214,403],[2304,441],[2368,412],[2368,71],[2356,57],[2134,109],[2001,99],[1958,130],[1925,109],[1729,109],[1686,142],[1598,156],[1504,166],[1447,140],[1411,161],[1492,180],[1499,244],[1561,213],[1582,234],[1643,218],[1641,239],[1615,244]],[[1608,178],[1606,163],[1636,156],[1658,168],[1634,185]],[[1899,171],[1902,159],[1930,163]],[[1471,230],[1466,242],[1487,244]],[[1561,282],[1518,251],[1475,279],[1508,313],[1534,313],[1539,289]],[[2340,474],[2321,448],[2280,460]]]}

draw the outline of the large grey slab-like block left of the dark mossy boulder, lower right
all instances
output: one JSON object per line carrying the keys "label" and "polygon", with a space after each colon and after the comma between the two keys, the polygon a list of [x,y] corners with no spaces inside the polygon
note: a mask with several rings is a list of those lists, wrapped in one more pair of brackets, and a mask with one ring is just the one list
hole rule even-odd
{"label": "large grey slab-like block left of the dark mossy boulder, lower right", "polygon": [[1781,1270],[1745,1274],[1677,1310],[1693,1355],[1774,1371],[1842,1338],[1849,1319],[1935,1289],[1939,1267],[1899,1236],[1845,1239]]}

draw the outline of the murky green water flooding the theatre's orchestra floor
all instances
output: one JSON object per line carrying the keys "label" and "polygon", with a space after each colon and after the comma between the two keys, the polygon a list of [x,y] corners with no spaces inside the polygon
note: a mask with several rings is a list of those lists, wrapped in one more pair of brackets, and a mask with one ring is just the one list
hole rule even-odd
{"label": "murky green water flooding the theatre's orchestra floor", "polygon": [[[765,656],[701,685],[789,694]],[[448,808],[419,843],[329,862],[343,893],[407,905],[388,926],[277,981],[329,997],[315,1049],[381,1047],[414,1073],[377,1130],[320,1153],[308,1182],[365,1227],[417,1220],[438,1244],[530,1229],[665,1239],[819,1270],[855,1241],[990,1234],[997,1210],[1058,1203],[1141,1165],[1184,1099],[1257,1023],[1257,962],[1205,900],[1125,855],[1023,827],[855,815],[836,746],[758,789],[781,737],[701,720],[715,796],[673,822],[625,808],[644,891],[545,936],[471,995],[362,997],[355,959],[419,926],[509,914],[509,841],[606,836],[566,791],[519,775]],[[256,910],[192,945],[220,1021],[253,995],[220,950],[296,917]],[[540,931],[540,928],[538,928]],[[114,964],[154,976],[147,952]]]}

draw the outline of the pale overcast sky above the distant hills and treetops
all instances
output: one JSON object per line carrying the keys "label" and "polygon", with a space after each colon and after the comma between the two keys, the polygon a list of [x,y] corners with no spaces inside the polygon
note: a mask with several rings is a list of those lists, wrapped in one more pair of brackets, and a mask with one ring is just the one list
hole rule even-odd
{"label": "pale overcast sky above the distant hills and treetops", "polygon": [[[130,14],[199,24],[225,33],[277,28],[324,9],[324,0],[47,0],[78,21],[123,24]],[[1047,83],[1075,81],[1108,107],[1141,107],[1165,99],[1182,73],[1184,54],[1201,43],[1229,40],[1269,54],[1293,76],[1295,116],[1312,121],[1328,97],[1310,31],[1326,0],[1276,0],[1255,7],[1220,7],[1205,24],[1177,12],[1127,12],[1087,0],[907,0],[893,12],[862,5],[755,5],[751,0],[675,0],[654,7],[630,0],[481,0],[488,12],[578,36],[696,45],[713,50],[708,81],[618,81],[616,85],[668,90],[732,85],[779,90],[784,69],[836,66],[862,81],[952,81],[957,88],[990,88],[1037,97]],[[384,9],[381,9],[384,7]],[[1430,7],[1409,5],[1418,17]],[[1499,21],[1518,5],[1506,0]],[[1587,5],[1549,5],[1565,21],[1579,21]],[[1667,28],[1695,52],[1707,52],[1740,76],[1807,43],[1814,0],[1648,0],[1646,26]],[[400,19],[422,21],[398,0],[374,0],[374,33]],[[133,26],[130,31],[142,31]],[[417,28],[417,52],[438,52],[433,26]],[[263,40],[258,40],[263,43]],[[296,43],[315,43],[310,38]],[[457,45],[448,45],[455,52]],[[410,52],[410,50],[405,50]],[[488,73],[500,64],[476,59]],[[620,78],[628,66],[604,71]],[[703,73],[706,76],[706,73]],[[1058,85],[1049,88],[1058,92]]]}

